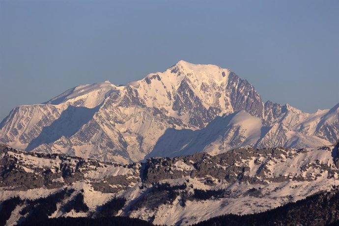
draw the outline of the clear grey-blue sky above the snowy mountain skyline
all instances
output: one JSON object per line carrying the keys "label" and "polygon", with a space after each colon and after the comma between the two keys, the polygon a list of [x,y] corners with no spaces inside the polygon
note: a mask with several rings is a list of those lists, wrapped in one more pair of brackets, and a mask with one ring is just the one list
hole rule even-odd
{"label": "clear grey-blue sky above the snowy mountain skyline", "polygon": [[[338,0],[0,0],[0,118],[178,60],[229,68],[264,101],[339,102]],[[1,120],[0,119],[0,120]]]}

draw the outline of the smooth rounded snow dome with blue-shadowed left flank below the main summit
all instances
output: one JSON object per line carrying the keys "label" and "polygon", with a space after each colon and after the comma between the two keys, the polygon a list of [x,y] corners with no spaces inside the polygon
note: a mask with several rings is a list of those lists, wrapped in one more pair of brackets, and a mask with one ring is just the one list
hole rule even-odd
{"label": "smooth rounded snow dome with blue-shadowed left flank below the main summit", "polygon": [[260,118],[244,110],[217,116],[203,129],[168,129],[147,157],[174,157],[202,151],[218,154],[254,144],[260,139],[261,128]]}

